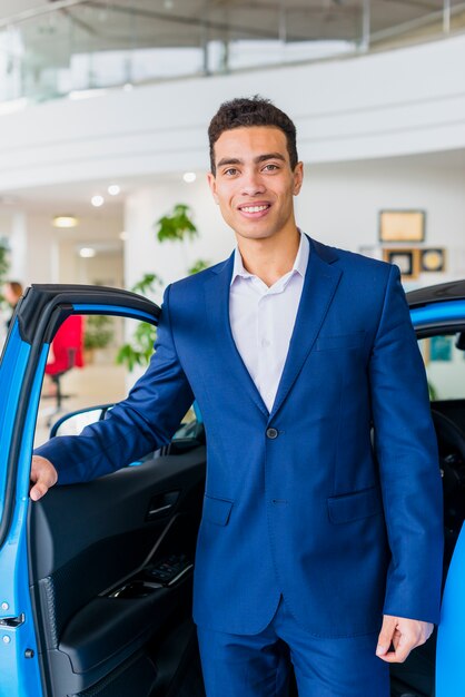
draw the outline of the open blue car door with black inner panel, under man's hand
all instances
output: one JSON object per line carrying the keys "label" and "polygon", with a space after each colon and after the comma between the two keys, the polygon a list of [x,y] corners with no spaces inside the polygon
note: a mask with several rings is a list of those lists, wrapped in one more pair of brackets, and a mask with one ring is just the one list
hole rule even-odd
{"label": "open blue car door with black inner panel, under man's hand", "polygon": [[[29,500],[59,326],[71,314],[157,324],[159,313],[132,293],[66,285],[32,286],[17,307],[0,364],[0,697],[180,695],[196,670],[191,569],[205,479],[197,431],[138,467]],[[194,697],[201,686],[192,675]]]}

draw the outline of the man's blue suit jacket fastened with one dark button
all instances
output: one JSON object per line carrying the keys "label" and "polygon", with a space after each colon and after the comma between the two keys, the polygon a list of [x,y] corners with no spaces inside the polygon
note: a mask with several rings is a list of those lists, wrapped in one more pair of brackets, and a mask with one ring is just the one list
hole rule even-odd
{"label": "man's blue suit jacket fastened with one dark button", "polygon": [[397,267],[311,240],[271,413],[233,340],[231,271],[233,257],[168,287],[128,399],[37,452],[61,483],[106,474],[168,442],[195,395],[207,432],[198,624],[255,634],[280,593],[317,636],[377,631],[383,612],[437,621],[436,439]]}

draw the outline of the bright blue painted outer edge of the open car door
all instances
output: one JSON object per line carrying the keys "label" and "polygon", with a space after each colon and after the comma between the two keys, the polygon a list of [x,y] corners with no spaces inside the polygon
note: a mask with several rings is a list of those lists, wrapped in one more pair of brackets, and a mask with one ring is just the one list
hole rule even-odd
{"label": "bright blue painted outer edge of the open car door", "polygon": [[[32,621],[27,569],[26,518],[28,510],[29,463],[33,428],[23,411],[30,405],[30,419],[37,414],[39,380],[29,369],[31,346],[21,341],[18,322],[10,328],[0,371],[0,695],[37,695],[40,670],[37,655],[36,627]],[[36,352],[43,370],[47,347]],[[4,366],[8,370],[4,370]],[[22,376],[29,373],[29,390]],[[28,462],[28,468],[21,463]],[[39,687],[40,689],[40,687]]]}

